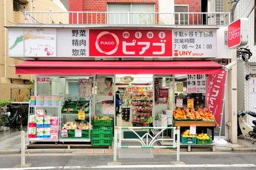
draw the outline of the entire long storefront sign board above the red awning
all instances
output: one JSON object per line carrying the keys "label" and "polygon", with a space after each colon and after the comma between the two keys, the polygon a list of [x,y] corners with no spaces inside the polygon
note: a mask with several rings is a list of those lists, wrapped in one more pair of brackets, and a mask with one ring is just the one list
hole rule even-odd
{"label": "entire long storefront sign board above the red awning", "polygon": [[[232,52],[223,48],[223,31],[217,29],[8,28],[8,31],[10,57],[230,58]],[[221,43],[217,44],[217,39]]]}

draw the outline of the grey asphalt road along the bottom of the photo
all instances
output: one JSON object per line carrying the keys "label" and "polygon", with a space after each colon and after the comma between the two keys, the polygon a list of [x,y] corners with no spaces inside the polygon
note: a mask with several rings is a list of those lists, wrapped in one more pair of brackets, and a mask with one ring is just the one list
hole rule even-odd
{"label": "grey asphalt road along the bottom of the photo", "polygon": [[[151,159],[118,159],[121,165],[109,166],[113,155],[30,154],[24,169],[256,169],[256,152],[192,152],[180,155],[154,155]],[[19,155],[0,155],[0,170],[16,168]]]}

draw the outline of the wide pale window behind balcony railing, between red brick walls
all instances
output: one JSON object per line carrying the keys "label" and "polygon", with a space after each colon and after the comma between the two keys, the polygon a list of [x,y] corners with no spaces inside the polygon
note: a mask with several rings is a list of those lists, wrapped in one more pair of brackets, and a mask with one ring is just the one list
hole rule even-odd
{"label": "wide pale window behind balcony railing, between red brick walls", "polygon": [[155,24],[154,4],[108,3],[108,12],[109,24]]}

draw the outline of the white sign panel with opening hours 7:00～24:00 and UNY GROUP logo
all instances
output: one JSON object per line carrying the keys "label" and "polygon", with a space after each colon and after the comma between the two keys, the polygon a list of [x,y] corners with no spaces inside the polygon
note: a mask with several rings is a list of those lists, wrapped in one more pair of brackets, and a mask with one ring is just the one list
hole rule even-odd
{"label": "white sign panel with opening hours 7:00\uff5e24:00 and UNY GROUP logo", "polygon": [[172,56],[216,57],[216,29],[173,29]]}

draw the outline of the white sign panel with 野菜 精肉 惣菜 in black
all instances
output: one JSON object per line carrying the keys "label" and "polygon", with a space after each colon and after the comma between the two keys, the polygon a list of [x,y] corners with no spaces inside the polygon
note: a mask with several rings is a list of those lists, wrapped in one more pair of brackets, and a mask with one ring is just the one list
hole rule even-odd
{"label": "white sign panel with \u91ce\u83dc \u7cbe\u8089 \u60e3\u83dc in black", "polygon": [[58,57],[88,57],[88,29],[57,29]]}

